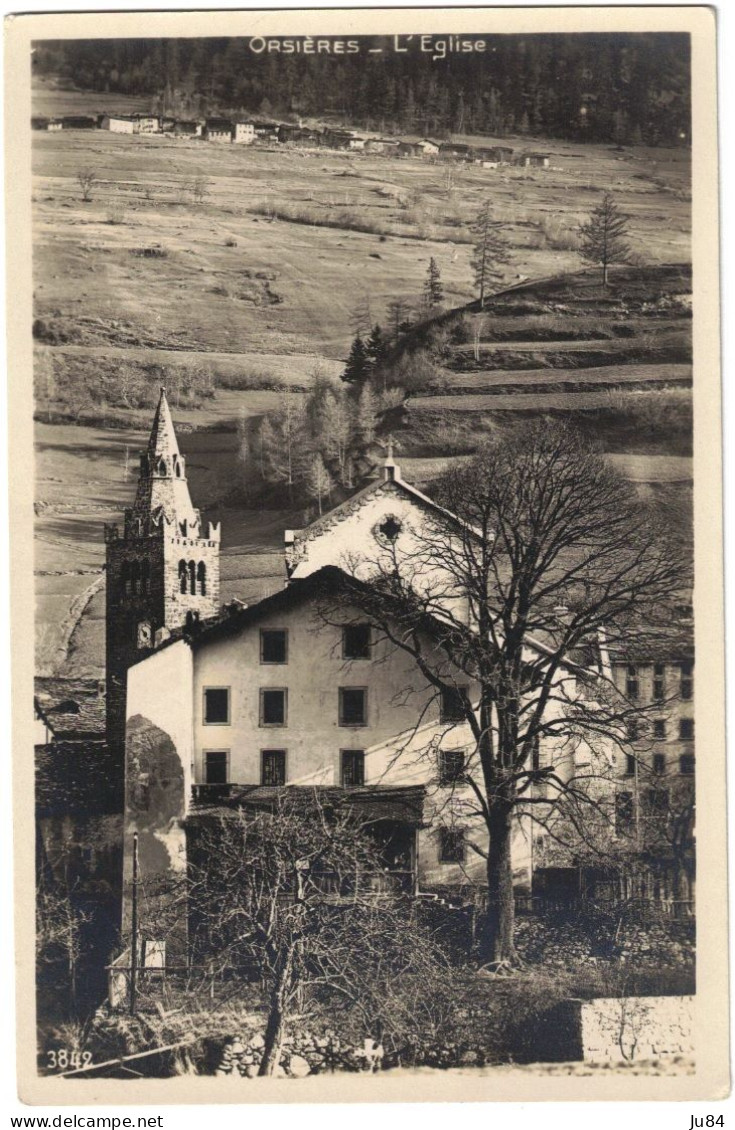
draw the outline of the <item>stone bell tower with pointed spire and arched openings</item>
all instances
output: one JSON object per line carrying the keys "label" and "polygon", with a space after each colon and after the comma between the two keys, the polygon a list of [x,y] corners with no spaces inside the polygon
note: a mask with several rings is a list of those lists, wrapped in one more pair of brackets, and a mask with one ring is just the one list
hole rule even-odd
{"label": "stone bell tower with pointed spire and arched openings", "polygon": [[124,749],[126,680],[131,663],[165,638],[166,631],[217,612],[219,536],[219,523],[209,523],[205,530],[191,504],[184,457],[162,389],[123,532],[105,525],[111,749]]}

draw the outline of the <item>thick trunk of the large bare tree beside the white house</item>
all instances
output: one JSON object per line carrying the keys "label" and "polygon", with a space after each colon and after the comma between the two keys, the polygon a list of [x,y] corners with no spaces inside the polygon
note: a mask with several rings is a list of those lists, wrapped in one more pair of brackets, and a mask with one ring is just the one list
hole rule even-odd
{"label": "thick trunk of the large bare tree beside the white house", "polygon": [[511,861],[512,806],[505,800],[491,803],[487,831],[487,915],[482,937],[485,962],[514,964],[514,901]]}

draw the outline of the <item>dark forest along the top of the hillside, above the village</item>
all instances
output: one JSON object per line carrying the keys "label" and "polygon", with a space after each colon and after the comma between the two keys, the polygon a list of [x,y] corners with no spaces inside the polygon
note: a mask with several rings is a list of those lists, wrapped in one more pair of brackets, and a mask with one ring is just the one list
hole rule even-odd
{"label": "dark forest along the top of the hillside, above the village", "polygon": [[485,50],[433,58],[417,43],[396,52],[387,36],[358,37],[354,54],[257,53],[244,37],[44,41],[33,67],[83,90],[148,95],[152,110],[181,115],[318,116],[432,137],[690,141],[689,35],[466,37]]}

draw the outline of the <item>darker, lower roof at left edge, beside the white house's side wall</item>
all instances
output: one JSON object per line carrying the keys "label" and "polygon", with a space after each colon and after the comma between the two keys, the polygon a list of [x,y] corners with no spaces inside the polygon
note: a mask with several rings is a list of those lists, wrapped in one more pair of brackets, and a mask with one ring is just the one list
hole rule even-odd
{"label": "darker, lower roof at left edge, beside the white house's side wall", "polygon": [[107,816],[122,812],[123,765],[105,741],[36,746],[36,816]]}

